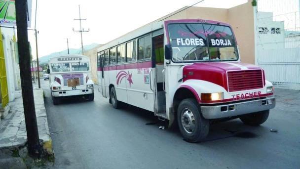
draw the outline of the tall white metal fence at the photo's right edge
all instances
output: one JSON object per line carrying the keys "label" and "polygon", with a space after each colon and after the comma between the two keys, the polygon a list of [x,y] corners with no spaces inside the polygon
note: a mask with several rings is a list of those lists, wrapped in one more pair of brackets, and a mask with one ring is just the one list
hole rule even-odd
{"label": "tall white metal fence at the photo's right edge", "polygon": [[273,84],[300,89],[300,0],[257,0],[256,63]]}

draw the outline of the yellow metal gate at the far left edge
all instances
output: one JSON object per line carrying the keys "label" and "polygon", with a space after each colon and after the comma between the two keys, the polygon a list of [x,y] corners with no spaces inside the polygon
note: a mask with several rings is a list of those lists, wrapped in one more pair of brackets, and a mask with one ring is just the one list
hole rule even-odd
{"label": "yellow metal gate at the far left edge", "polygon": [[0,96],[1,96],[2,107],[4,108],[8,104],[9,99],[8,99],[5,58],[4,58],[1,30],[0,30],[0,93],[1,93]]}

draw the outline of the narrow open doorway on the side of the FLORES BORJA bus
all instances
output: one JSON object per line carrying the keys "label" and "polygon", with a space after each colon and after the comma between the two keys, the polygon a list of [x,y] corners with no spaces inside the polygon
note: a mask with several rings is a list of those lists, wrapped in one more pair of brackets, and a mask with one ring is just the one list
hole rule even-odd
{"label": "narrow open doorway on the side of the FLORES BORJA bus", "polygon": [[163,90],[163,71],[164,71],[164,50],[163,50],[163,30],[152,33],[152,61],[155,67],[154,82],[154,104],[155,115],[166,118],[166,97]]}

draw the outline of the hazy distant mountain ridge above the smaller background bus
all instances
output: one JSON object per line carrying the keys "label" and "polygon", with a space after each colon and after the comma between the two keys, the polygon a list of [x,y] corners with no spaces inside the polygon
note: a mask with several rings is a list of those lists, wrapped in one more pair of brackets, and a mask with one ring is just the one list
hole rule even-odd
{"label": "hazy distant mountain ridge above the smaller background bus", "polygon": [[[84,48],[84,50],[89,50],[89,49],[92,49],[92,48],[96,47],[97,45],[99,45],[99,44],[92,43],[92,44],[83,46],[83,48]],[[69,48],[69,51],[70,51],[70,54],[81,54],[81,48],[78,48],[78,49]],[[51,59],[53,57],[56,57],[56,56],[59,56],[59,55],[64,55],[64,54],[68,54],[68,49],[63,50],[63,51],[59,51],[59,52],[54,52],[54,53],[51,53],[51,54],[46,55],[46,56],[39,57],[38,61],[39,61],[40,64],[48,63],[49,59]]]}

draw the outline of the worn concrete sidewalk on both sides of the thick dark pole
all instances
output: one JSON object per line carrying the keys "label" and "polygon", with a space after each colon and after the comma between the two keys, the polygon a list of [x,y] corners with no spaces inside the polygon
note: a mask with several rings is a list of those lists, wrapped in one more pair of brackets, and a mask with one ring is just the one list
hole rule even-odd
{"label": "worn concrete sidewalk on both sides of the thick dark pole", "polygon": [[[53,154],[52,141],[48,128],[46,109],[44,106],[43,90],[34,89],[34,99],[38,122],[39,139],[42,140],[43,148],[48,154]],[[0,159],[8,150],[15,151],[23,148],[27,142],[27,133],[24,119],[22,97],[10,103],[10,111],[0,123]]]}

